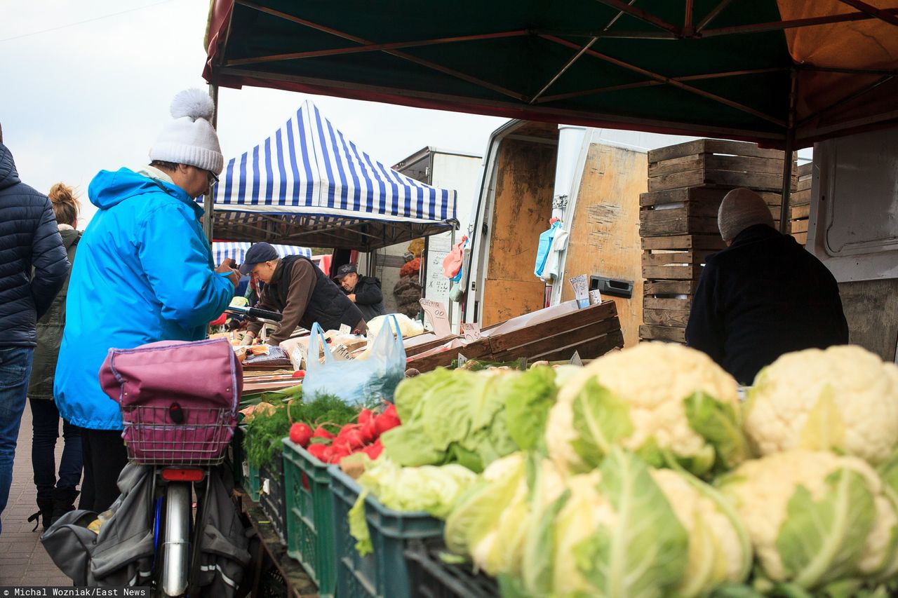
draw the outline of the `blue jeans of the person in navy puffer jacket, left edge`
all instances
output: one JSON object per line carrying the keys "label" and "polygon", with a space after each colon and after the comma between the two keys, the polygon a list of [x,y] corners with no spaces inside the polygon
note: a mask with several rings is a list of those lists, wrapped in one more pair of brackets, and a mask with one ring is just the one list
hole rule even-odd
{"label": "blue jeans of the person in navy puffer jacket, left edge", "polygon": [[[25,410],[34,347],[0,349],[0,514],[13,484],[13,459]],[[0,526],[0,531],[3,528]]]}

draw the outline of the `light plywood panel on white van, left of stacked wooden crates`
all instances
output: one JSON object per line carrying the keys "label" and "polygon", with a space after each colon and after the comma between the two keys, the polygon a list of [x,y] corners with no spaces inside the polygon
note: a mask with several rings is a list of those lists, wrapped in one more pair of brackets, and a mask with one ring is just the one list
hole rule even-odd
{"label": "light plywood panel on white van, left of stacked wooden crates", "polygon": [[[569,216],[568,259],[561,299],[574,298],[568,278],[595,274],[633,281],[631,298],[610,297],[617,303],[627,346],[639,342],[642,324],[642,266],[639,207],[647,189],[646,154],[611,145],[591,144],[577,190],[577,207]],[[531,275],[532,276],[532,275]]]}

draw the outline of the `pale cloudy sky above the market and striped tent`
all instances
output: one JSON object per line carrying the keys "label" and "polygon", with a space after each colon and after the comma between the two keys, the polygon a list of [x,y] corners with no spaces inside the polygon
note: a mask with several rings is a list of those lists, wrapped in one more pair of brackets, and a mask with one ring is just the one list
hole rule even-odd
{"label": "pale cloudy sky above the market and striped tent", "polygon": [[[207,0],[0,0],[0,124],[22,180],[82,193],[101,170],[133,168],[168,120],[174,94],[206,90]],[[506,119],[245,87],[222,88],[225,161],[272,134],[304,100],[391,165],[431,145],[483,154]],[[86,204],[86,205],[85,205]],[[84,222],[82,223],[84,224]],[[83,227],[83,226],[82,226]]]}

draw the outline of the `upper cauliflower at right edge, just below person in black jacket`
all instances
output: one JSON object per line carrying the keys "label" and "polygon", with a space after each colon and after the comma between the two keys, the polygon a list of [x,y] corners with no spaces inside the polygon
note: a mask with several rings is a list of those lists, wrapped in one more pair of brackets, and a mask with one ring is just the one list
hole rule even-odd
{"label": "upper cauliflower at right edge, just below person in black jacket", "polygon": [[745,431],[761,454],[838,449],[877,464],[898,447],[898,366],[861,347],[780,356],[748,397]]}

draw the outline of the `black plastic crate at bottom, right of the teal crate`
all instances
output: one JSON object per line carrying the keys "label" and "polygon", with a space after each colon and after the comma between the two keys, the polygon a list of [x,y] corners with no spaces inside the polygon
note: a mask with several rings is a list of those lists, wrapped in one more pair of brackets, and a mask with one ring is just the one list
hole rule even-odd
{"label": "black plastic crate at bottom, right of the teal crate", "polygon": [[492,577],[474,573],[469,564],[449,564],[440,558],[441,539],[409,541],[405,563],[409,569],[412,598],[494,598],[498,584]]}

